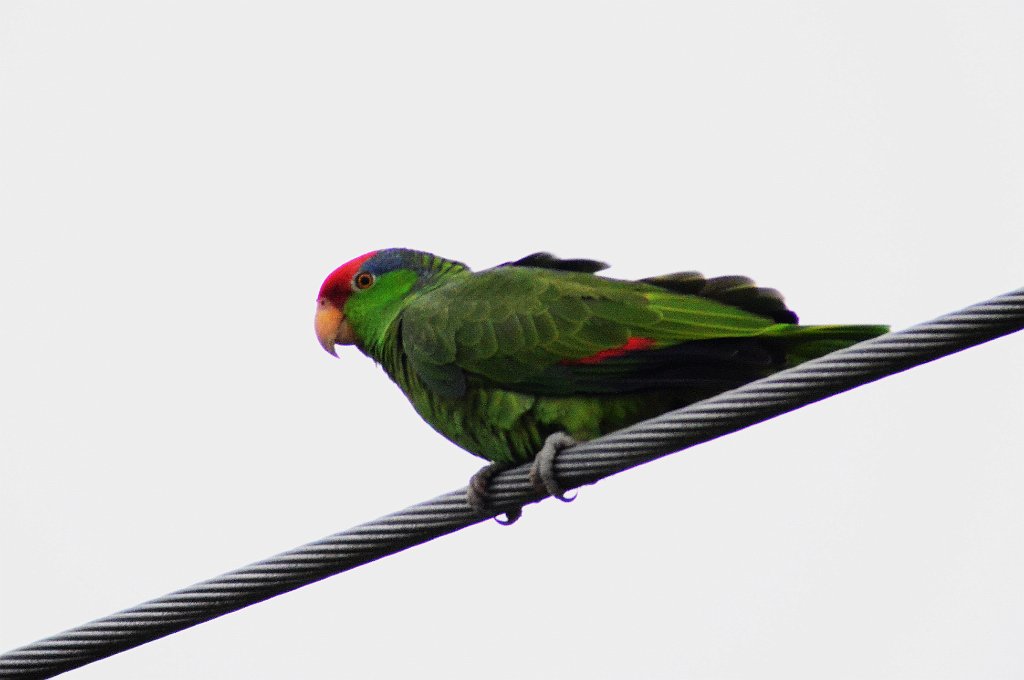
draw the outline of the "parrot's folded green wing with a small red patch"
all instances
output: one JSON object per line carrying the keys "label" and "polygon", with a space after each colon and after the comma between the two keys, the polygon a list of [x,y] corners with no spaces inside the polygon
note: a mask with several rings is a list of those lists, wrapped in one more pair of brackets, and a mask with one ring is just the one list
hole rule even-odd
{"label": "parrot's folded green wing with a small red patch", "polygon": [[718,290],[706,294],[745,298],[744,306],[763,313],[678,292],[694,289],[695,277],[625,282],[498,267],[413,300],[401,315],[402,349],[427,386],[447,397],[472,384],[534,394],[610,394],[727,389],[782,368],[793,347],[828,340],[822,329],[831,335],[859,329],[834,338],[840,346],[881,332],[778,323],[770,314],[796,316],[777,293],[742,278],[711,280],[719,282]]}

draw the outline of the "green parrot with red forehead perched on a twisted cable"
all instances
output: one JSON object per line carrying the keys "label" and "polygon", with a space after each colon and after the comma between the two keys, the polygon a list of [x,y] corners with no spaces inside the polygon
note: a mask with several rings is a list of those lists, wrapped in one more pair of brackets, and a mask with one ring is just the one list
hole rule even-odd
{"label": "green parrot with red forehead perched on a twisted cable", "polygon": [[746,277],[626,281],[598,274],[607,267],[542,252],[473,271],[375,250],[324,280],[314,330],[334,356],[354,345],[434,430],[489,461],[468,487],[481,513],[503,469],[532,461],[538,492],[571,500],[554,473],[562,449],[889,330],[801,326]]}

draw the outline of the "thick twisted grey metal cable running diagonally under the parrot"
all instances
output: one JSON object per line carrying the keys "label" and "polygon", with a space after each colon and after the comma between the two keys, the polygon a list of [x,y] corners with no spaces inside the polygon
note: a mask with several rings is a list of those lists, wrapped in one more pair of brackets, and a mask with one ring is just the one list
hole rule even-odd
{"label": "thick twisted grey metal cable running diagonally under the parrot", "polygon": [[[562,451],[573,488],[1024,328],[1024,288],[859,343]],[[541,500],[523,465],[490,485],[495,514]],[[0,655],[2,678],[49,678],[484,521],[466,488],[359,524]]]}

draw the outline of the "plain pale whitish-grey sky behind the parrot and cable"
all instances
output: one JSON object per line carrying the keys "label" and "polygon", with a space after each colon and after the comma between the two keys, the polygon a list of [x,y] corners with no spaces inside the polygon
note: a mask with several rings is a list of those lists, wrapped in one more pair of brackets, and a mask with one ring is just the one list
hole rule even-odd
{"label": "plain pale whitish-grey sky behind the parrot and cable", "polygon": [[[465,483],[324,275],[745,273],[905,327],[1024,284],[1024,4],[0,3],[0,648]],[[75,678],[1011,678],[1024,337]]]}

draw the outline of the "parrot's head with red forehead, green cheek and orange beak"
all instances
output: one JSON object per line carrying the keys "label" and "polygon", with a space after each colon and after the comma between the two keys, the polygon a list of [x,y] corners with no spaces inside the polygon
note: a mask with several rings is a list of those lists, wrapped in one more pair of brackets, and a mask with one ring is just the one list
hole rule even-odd
{"label": "parrot's head with red forehead, green cheek and orange beak", "polygon": [[335,356],[335,345],[376,353],[410,293],[454,268],[464,266],[404,248],[375,250],[345,262],[324,280],[316,295],[316,339]]}

